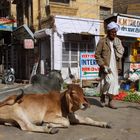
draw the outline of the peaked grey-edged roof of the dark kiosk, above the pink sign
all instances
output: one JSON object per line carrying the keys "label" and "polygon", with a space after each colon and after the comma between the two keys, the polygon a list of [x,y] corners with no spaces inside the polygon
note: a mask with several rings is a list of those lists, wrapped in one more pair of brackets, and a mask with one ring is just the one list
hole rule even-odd
{"label": "peaked grey-edged roof of the dark kiosk, above the pink sign", "polygon": [[24,24],[13,31],[13,37],[17,40],[34,39],[33,32]]}

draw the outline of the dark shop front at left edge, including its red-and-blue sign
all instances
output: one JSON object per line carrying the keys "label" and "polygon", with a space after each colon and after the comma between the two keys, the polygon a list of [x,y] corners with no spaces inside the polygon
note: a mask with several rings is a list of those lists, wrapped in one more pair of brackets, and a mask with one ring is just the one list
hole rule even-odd
{"label": "dark shop front at left edge, including its red-and-blue sign", "polygon": [[15,27],[16,21],[14,19],[0,18],[0,75],[4,69],[13,66],[11,59],[11,33]]}

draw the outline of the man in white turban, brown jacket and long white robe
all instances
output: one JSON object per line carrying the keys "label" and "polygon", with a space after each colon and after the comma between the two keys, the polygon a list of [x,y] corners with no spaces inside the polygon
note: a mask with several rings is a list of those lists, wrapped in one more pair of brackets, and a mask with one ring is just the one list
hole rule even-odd
{"label": "man in white turban, brown jacket and long white robe", "polygon": [[117,37],[119,25],[114,21],[107,25],[107,36],[101,39],[96,47],[95,58],[100,66],[100,102],[105,106],[106,95],[109,98],[108,107],[117,109],[113,105],[113,96],[119,94],[118,73],[121,72],[121,58],[124,53],[121,40]]}

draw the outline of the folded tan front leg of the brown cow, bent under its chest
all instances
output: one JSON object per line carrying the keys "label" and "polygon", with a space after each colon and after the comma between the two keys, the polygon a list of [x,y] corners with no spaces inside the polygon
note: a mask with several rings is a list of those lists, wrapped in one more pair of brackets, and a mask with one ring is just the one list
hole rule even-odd
{"label": "folded tan front leg of the brown cow, bent under its chest", "polygon": [[43,123],[46,124],[48,127],[53,127],[53,128],[54,127],[68,128],[70,125],[68,119],[55,114],[45,116],[43,119]]}

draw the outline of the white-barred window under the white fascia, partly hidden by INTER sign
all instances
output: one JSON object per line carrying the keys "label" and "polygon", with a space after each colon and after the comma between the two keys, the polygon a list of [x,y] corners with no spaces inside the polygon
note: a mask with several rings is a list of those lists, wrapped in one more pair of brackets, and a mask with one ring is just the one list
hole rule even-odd
{"label": "white-barred window under the white fascia, partly hidden by INTER sign", "polygon": [[[77,41],[73,39],[77,39]],[[84,40],[83,36],[80,35],[71,35],[70,39],[65,40],[62,48],[63,67],[79,67],[80,52],[94,51],[94,37],[88,36],[86,39]]]}

